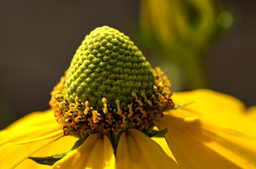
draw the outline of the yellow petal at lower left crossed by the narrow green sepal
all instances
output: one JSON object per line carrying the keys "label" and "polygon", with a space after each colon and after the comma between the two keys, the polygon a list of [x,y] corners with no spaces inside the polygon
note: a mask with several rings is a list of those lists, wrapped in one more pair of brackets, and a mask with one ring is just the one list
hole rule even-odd
{"label": "yellow petal at lower left crossed by the narrow green sepal", "polygon": [[[78,137],[74,136],[64,136],[60,139],[46,145],[43,149],[31,155],[31,157],[47,157],[50,155],[57,155],[62,153],[67,153],[71,150],[72,146],[78,140]],[[33,169],[41,169],[41,168],[51,168],[51,166],[38,164],[31,159],[25,159],[21,162],[15,169],[23,169],[23,168],[33,168]]]}

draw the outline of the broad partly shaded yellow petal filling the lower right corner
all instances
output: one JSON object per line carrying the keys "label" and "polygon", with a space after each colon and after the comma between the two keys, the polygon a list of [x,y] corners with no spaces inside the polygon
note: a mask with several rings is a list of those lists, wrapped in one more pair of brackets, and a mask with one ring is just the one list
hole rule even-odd
{"label": "broad partly shaded yellow petal filling the lower right corner", "polygon": [[255,167],[255,139],[251,137],[199,119],[186,121],[170,115],[155,124],[159,130],[168,128],[165,137],[181,168]]}

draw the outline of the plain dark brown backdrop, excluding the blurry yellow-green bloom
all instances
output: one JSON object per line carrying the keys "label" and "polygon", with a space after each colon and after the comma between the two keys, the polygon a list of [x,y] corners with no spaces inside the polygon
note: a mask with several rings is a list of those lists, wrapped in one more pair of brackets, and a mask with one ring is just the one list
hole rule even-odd
{"label": "plain dark brown backdrop, excluding the blurry yellow-green bloom", "polygon": [[[255,105],[256,1],[222,4],[233,26],[205,54],[209,87]],[[0,128],[49,108],[50,91],[94,28],[119,29],[144,52],[136,37],[139,10],[137,0],[0,0]]]}

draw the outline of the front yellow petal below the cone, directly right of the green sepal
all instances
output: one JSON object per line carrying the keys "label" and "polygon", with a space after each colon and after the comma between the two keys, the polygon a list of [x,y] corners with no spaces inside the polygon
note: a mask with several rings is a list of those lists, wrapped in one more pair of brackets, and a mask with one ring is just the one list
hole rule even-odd
{"label": "front yellow petal below the cone, directly right of the green sepal", "polygon": [[77,149],[54,164],[53,168],[115,168],[115,155],[110,140],[93,134]]}

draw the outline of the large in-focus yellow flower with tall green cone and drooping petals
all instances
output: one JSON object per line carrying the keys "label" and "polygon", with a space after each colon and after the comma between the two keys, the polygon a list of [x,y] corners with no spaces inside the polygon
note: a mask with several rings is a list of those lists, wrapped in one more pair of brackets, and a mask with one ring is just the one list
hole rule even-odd
{"label": "large in-focus yellow flower with tall green cone and drooping petals", "polygon": [[51,92],[51,109],[0,132],[0,166],[256,167],[255,118],[248,118],[254,108],[246,115],[234,97],[211,90],[172,95],[170,87],[128,37],[97,28]]}

